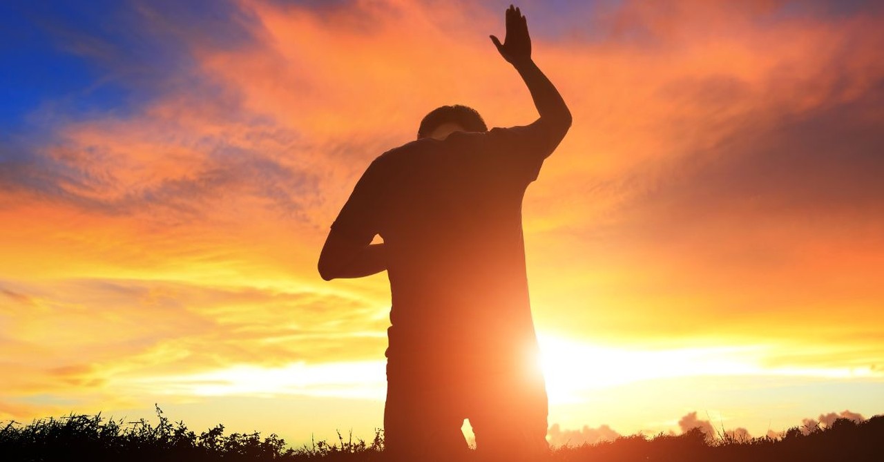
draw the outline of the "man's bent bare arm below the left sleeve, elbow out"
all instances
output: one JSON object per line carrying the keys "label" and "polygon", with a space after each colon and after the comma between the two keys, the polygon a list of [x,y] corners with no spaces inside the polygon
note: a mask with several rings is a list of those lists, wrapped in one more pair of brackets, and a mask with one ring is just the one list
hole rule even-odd
{"label": "man's bent bare arm below the left sleeve, elbow out", "polygon": [[386,269],[384,244],[362,244],[331,230],[319,254],[319,276],[326,281],[339,277],[371,276]]}

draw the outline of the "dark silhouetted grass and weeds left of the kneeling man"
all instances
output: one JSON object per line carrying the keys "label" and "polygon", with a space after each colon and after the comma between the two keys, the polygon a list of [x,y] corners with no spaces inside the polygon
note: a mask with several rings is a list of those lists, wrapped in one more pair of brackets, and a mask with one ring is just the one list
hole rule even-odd
{"label": "dark silhouetted grass and weeds left of the kneeling man", "polygon": [[172,423],[156,407],[159,423],[125,422],[71,414],[60,419],[34,420],[28,425],[4,422],[0,426],[0,460],[54,461],[263,461],[263,460],[378,460],[383,436],[371,443],[339,436],[338,443],[321,441],[294,450],[276,434],[258,432],[225,435],[218,424],[200,434],[183,421]]}

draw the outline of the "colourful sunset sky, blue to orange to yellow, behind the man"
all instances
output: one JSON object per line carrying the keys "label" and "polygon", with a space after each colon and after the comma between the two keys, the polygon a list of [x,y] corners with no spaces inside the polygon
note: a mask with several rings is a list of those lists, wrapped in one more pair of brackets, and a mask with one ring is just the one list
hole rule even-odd
{"label": "colourful sunset sky, blue to orange to yellow, behind the man", "polygon": [[[316,259],[428,111],[537,117],[508,4],[0,5],[0,420],[373,437],[387,279]],[[574,116],[522,211],[551,441],[884,413],[881,4],[519,6]]]}

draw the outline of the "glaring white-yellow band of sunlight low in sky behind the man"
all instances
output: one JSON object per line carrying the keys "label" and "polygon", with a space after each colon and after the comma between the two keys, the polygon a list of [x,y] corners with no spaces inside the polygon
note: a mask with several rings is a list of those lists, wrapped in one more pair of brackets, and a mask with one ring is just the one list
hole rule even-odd
{"label": "glaring white-yellow band of sunlight low in sky behind the man", "polygon": [[[698,376],[783,376],[856,379],[881,376],[872,367],[766,367],[766,345],[628,350],[565,337],[540,336],[541,360],[552,405],[586,402],[588,393],[631,382]],[[284,367],[237,365],[191,375],[126,380],[121,386],[199,397],[314,397],[383,400],[385,361],[353,361]]]}

